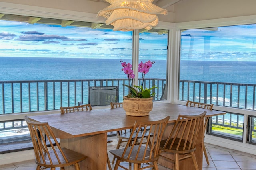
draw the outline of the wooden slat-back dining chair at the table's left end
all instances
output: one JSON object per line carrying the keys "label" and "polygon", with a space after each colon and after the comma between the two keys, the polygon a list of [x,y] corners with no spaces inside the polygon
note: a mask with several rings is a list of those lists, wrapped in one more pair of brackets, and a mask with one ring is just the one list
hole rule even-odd
{"label": "wooden slat-back dining chair at the table's left end", "polygon": [[[74,165],[76,170],[80,170],[78,162],[85,160],[87,156],[75,152],[73,150],[62,148],[58,143],[52,129],[48,125],[48,122],[36,122],[25,116],[25,121],[28,124],[28,129],[32,139],[35,161],[37,164],[36,170],[42,170],[46,168],[60,168],[64,170],[64,166]],[[45,140],[42,140],[39,135],[46,135],[49,145]],[[55,146],[55,145],[56,146]]]}

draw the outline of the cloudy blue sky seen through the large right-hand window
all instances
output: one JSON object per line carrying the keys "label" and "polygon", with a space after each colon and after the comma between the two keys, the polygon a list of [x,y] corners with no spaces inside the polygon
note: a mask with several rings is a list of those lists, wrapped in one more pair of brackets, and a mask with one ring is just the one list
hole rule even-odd
{"label": "cloudy blue sky seen through the large right-hand window", "polygon": [[256,24],[190,29],[181,39],[183,59],[256,61]]}

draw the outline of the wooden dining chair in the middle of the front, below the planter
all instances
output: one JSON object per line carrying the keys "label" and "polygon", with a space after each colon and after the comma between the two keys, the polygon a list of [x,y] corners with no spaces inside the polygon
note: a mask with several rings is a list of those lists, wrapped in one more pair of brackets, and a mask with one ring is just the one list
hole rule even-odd
{"label": "wooden dining chair in the middle of the front, below the planter", "polygon": [[[150,167],[158,170],[157,160],[160,154],[160,141],[169,119],[170,116],[158,121],[135,121],[126,146],[121,149],[110,150],[110,153],[117,158],[114,170],[117,170],[118,167],[128,170],[120,164],[121,161],[129,162],[129,170],[132,169],[132,163],[133,170],[142,170]],[[148,131],[153,134],[152,137],[148,136],[146,143],[142,140],[137,143],[140,133],[142,133],[142,137],[148,133],[147,127],[150,127]],[[137,128],[144,130],[142,132],[137,131]],[[143,167],[141,167],[142,164]]]}

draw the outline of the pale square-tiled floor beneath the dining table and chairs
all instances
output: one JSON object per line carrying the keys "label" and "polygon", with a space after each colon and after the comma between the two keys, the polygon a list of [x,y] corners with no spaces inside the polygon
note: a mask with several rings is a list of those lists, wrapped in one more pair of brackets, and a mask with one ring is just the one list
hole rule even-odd
{"label": "pale square-tiled floor beneath the dining table and chairs", "polygon": [[[115,149],[115,145],[109,145],[108,150]],[[256,155],[240,152],[237,150],[210,145],[206,143],[208,158],[210,165],[206,161],[203,162],[203,170],[256,170]],[[113,156],[108,152],[110,161]],[[128,164],[123,162],[123,165],[128,167]],[[112,168],[114,166],[112,165]],[[0,166],[0,170],[35,170],[36,164],[34,160],[18,162]],[[170,170],[163,166],[158,166],[159,170]],[[118,168],[118,170],[122,168]],[[57,168],[56,168],[57,170]],[[151,170],[148,168],[148,170]]]}

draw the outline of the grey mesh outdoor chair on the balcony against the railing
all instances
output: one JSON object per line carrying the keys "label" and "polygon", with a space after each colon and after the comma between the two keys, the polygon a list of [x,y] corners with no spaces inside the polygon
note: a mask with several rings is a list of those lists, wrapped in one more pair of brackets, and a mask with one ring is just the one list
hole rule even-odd
{"label": "grey mesh outdoor chair on the balcony against the railing", "polygon": [[110,102],[118,102],[118,86],[89,86],[88,90],[88,103],[91,106],[106,106]]}

